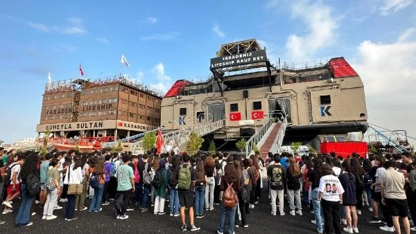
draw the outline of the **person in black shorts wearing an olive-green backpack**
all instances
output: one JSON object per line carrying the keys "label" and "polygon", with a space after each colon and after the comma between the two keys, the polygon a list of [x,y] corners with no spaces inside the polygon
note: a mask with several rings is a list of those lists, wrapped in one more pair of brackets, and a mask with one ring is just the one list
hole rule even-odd
{"label": "person in black shorts wearing an olive-green backpack", "polygon": [[195,187],[196,171],[191,167],[191,157],[184,153],[182,156],[183,164],[177,168],[177,192],[179,194],[180,204],[180,220],[182,222],[182,231],[187,231],[187,222],[185,217],[185,209],[189,209],[189,222],[191,224],[190,231],[198,231],[200,227],[195,226],[193,222],[193,205],[195,199],[193,197],[193,188]]}

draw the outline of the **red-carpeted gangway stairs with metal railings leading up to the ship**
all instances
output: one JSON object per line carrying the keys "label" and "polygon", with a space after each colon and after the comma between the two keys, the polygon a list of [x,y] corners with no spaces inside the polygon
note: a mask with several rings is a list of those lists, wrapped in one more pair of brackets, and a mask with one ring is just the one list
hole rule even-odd
{"label": "red-carpeted gangway stairs with metal railings leading up to the ship", "polygon": [[[281,153],[281,145],[283,143],[284,133],[286,132],[286,127],[288,125],[287,118],[282,117],[281,122],[275,123],[277,118],[270,118],[250,139],[245,145],[245,156],[250,156],[254,150],[254,145],[258,145],[263,140],[263,145],[266,143],[269,146],[269,150],[272,153]],[[270,129],[270,131],[268,131]],[[268,134],[266,134],[268,133]],[[266,138],[266,139],[263,139]],[[262,146],[263,146],[262,145]],[[275,147],[273,147],[275,146]]]}

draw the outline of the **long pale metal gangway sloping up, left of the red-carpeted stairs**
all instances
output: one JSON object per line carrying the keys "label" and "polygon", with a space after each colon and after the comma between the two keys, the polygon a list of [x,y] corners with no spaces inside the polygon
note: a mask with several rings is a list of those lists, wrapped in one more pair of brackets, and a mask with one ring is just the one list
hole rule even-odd
{"label": "long pale metal gangway sloping up, left of the red-carpeted stairs", "polygon": [[[214,123],[195,125],[193,127],[186,127],[182,129],[177,129],[172,132],[166,132],[162,134],[162,136],[164,143],[167,143],[168,145],[177,144],[177,146],[180,147],[180,145],[183,145],[188,141],[188,136],[189,134],[191,134],[191,132],[196,132],[200,136],[205,136],[224,126],[225,120],[218,120]],[[130,150],[133,153],[144,152],[143,148],[141,147],[141,139],[139,141],[136,141],[135,143],[131,143]]]}

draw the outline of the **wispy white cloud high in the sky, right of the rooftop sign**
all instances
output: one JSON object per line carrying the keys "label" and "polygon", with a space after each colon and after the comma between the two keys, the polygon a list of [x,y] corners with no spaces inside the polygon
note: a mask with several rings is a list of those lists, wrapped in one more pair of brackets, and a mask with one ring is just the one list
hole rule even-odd
{"label": "wispy white cloud high in the sky, right of the rooftop sign", "polygon": [[[271,1],[269,5],[275,6],[272,4],[273,2]],[[290,8],[291,17],[303,22],[306,34],[288,36],[286,40],[287,57],[297,62],[309,60],[316,51],[326,48],[334,42],[338,22],[329,6],[324,5],[321,1],[303,0],[292,3]]]}

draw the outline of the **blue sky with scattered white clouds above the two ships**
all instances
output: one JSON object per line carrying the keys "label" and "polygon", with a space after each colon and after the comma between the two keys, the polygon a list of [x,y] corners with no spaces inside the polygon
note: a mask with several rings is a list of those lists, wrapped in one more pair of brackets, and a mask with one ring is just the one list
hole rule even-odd
{"label": "blue sky with scattered white clouds above the two ships", "polygon": [[[237,3],[238,2],[238,3]],[[120,72],[166,90],[206,78],[221,44],[259,39],[301,66],[344,56],[363,78],[370,122],[416,135],[416,4],[363,1],[6,1],[0,8],[0,139],[34,137],[53,80]],[[120,69],[121,53],[131,64]],[[413,108],[412,108],[413,107]]]}

